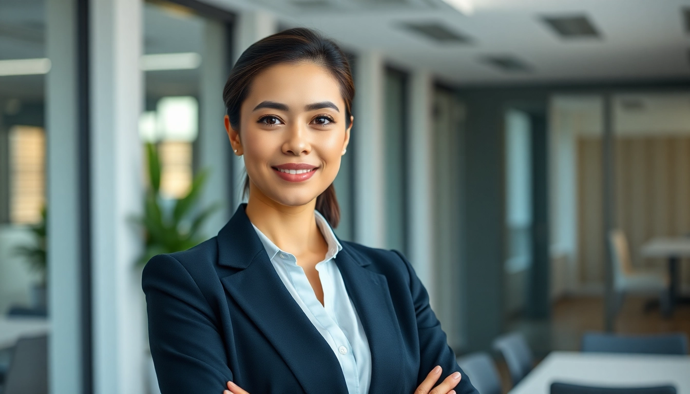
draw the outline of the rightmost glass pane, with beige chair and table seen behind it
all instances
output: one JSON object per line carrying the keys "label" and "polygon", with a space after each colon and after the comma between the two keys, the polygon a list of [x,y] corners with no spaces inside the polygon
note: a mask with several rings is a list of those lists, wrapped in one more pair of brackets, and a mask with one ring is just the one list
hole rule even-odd
{"label": "rightmost glass pane, with beige chair and table seen behind it", "polygon": [[[687,254],[678,252],[690,250],[690,93],[613,95],[612,108],[615,226],[624,241],[614,250],[614,277],[628,293],[615,328],[635,333],[635,319],[648,311],[649,328],[667,331],[660,315],[682,313],[682,289],[690,285]],[[660,297],[668,284],[673,309]]]}

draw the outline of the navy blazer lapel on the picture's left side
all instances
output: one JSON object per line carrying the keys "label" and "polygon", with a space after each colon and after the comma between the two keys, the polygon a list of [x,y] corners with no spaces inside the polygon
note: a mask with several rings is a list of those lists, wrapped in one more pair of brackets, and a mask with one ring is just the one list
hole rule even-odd
{"label": "navy blazer lapel on the picture's left side", "polygon": [[221,283],[288,364],[309,394],[347,394],[342,368],[319,331],[288,293],[244,213],[218,234],[219,264],[240,268]]}

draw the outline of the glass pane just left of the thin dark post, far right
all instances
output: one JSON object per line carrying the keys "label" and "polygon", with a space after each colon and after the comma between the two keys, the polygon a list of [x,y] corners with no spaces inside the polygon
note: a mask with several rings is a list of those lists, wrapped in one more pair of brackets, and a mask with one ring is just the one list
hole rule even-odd
{"label": "glass pane just left of the thin dark post, far right", "polygon": [[604,326],[603,115],[598,95],[551,99],[551,297],[557,300],[558,324],[550,331],[553,349],[578,350],[582,333]]}

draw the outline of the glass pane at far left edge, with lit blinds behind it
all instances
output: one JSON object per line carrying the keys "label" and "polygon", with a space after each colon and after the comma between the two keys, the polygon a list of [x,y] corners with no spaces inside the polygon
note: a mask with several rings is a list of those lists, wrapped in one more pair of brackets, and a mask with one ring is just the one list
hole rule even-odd
{"label": "glass pane at far left edge, with lit blinds behind it", "polygon": [[0,1],[0,371],[4,346],[48,331],[45,8]]}

